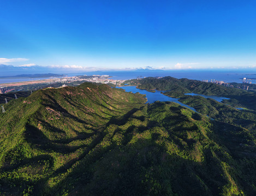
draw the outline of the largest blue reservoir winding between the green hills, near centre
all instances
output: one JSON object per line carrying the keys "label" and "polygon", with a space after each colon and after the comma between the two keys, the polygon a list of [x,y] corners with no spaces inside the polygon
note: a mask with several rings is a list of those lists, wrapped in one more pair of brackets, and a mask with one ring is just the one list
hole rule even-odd
{"label": "largest blue reservoir winding between the green hills, near centre", "polygon": [[145,94],[147,97],[146,103],[153,103],[155,101],[172,101],[172,102],[180,104],[181,106],[187,107],[194,112],[197,112],[197,111],[195,111],[195,109],[193,107],[190,107],[190,106],[187,106],[187,105],[181,103],[180,101],[178,101],[178,99],[161,94],[161,92],[163,92],[163,91],[156,90],[156,93],[151,93],[146,90],[138,89],[136,87],[116,87],[116,88],[122,88],[122,89],[126,90],[127,92]]}

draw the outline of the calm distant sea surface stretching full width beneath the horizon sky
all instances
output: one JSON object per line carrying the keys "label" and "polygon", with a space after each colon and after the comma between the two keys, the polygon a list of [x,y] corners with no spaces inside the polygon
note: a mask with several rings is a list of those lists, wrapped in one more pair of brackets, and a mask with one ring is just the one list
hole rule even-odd
{"label": "calm distant sea surface stretching full width beneath the horizon sky", "polygon": [[[36,70],[35,70],[36,71]],[[255,70],[134,70],[134,71],[93,71],[93,72],[63,72],[63,70],[37,70],[36,72],[19,72],[19,71],[8,71],[5,69],[1,69],[0,67],[0,76],[15,76],[18,74],[38,74],[38,73],[53,73],[53,74],[66,74],[68,76],[80,76],[80,75],[87,75],[92,76],[94,74],[97,75],[110,75],[112,76],[111,79],[134,79],[137,77],[165,77],[171,76],[175,78],[188,78],[188,79],[197,79],[199,81],[203,79],[216,79],[218,81],[224,82],[237,82],[242,83],[241,78],[255,78],[256,71]],[[248,74],[255,74],[255,75],[248,75]],[[28,81],[31,78],[27,78],[26,80],[19,81]],[[8,81],[0,81],[0,83],[7,83],[7,82],[18,82],[16,79],[11,79]],[[252,83],[256,83],[256,79],[252,79]]]}

